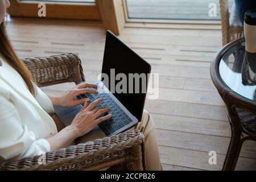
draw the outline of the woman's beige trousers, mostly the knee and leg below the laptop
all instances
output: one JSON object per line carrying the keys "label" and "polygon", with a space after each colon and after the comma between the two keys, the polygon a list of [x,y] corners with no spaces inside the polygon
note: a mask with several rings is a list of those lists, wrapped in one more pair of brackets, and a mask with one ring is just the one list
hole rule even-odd
{"label": "woman's beige trousers, mostly the knee and leg below the laptop", "polygon": [[[56,123],[58,131],[63,129],[63,125],[56,117],[56,115],[52,115],[52,118]],[[159,158],[158,142],[156,140],[154,121],[152,120],[150,114],[146,110],[143,111],[141,122],[139,122],[137,126],[132,127],[130,130],[133,129],[138,129],[144,135],[144,154],[146,170],[163,170]],[[94,139],[96,138],[92,138],[91,140]],[[88,138],[86,138],[86,140],[88,140]],[[79,142],[82,141],[83,140],[81,138]]]}

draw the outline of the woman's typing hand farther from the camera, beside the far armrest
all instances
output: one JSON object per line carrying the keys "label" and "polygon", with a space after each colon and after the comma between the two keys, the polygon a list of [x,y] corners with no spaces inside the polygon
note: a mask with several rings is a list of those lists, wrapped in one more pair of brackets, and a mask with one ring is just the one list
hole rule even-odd
{"label": "woman's typing hand farther from the camera, beside the far armrest", "polygon": [[64,94],[60,96],[49,96],[53,105],[59,105],[63,107],[73,107],[80,104],[84,104],[85,101],[89,101],[88,98],[83,98],[81,100],[77,100],[76,97],[83,93],[93,93],[97,94],[98,92],[95,90],[91,90],[89,88],[97,88],[97,85],[90,84],[86,82],[82,82],[79,85],[76,85],[74,88],[68,90]]}

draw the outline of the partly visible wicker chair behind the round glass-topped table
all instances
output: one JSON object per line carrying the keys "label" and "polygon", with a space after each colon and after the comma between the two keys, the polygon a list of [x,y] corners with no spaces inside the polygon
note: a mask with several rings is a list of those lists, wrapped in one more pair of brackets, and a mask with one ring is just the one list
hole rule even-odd
{"label": "partly visible wicker chair behind the round glass-topped table", "polygon": [[220,0],[222,46],[243,36],[243,25],[236,14],[235,5],[232,9],[233,11],[230,13],[228,0]]}

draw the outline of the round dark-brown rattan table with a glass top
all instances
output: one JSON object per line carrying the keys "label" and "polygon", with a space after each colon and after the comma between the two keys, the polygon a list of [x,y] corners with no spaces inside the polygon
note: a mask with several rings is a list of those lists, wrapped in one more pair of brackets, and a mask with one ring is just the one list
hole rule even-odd
{"label": "round dark-brown rattan table with a glass top", "polygon": [[225,102],[232,131],[223,170],[236,168],[245,140],[256,141],[255,73],[256,60],[245,59],[244,38],[222,47],[210,65],[210,76]]}

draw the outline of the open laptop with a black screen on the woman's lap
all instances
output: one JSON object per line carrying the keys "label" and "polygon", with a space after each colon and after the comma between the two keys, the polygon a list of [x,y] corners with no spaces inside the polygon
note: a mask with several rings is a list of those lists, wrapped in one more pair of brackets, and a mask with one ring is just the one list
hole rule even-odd
{"label": "open laptop with a black screen on the woman's lap", "polygon": [[[106,114],[112,114],[112,118],[101,122],[90,133],[86,134],[89,135],[90,140],[122,133],[141,121],[150,72],[150,64],[126,46],[111,31],[106,32],[101,81],[97,83],[98,89],[90,88],[97,90],[98,94],[85,93],[77,96],[78,100],[89,98],[90,102],[104,98],[104,101],[96,107],[105,106],[111,109]],[[126,85],[120,84],[120,81],[123,80],[121,80],[119,73],[121,76],[126,76]],[[146,76],[146,79],[143,80],[139,77],[136,82],[136,78],[132,77],[135,75]],[[54,109],[61,122],[68,126],[81,107],[82,105],[76,107],[54,106]]]}

